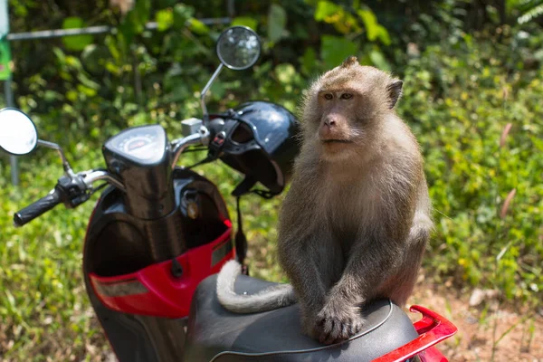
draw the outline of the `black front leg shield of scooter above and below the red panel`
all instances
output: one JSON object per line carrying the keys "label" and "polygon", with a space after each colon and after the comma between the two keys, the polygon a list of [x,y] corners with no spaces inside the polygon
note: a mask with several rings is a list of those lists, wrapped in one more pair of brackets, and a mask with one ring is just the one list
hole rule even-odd
{"label": "black front leg shield of scooter above and below the red panel", "polygon": [[229,219],[223,197],[205,177],[176,168],[173,178],[176,207],[170,214],[155,220],[129,214],[123,193],[110,186],[90,219],[83,250],[85,286],[119,361],[182,361],[186,318],[136,316],[110,310],[92,289],[89,273],[114,276],[160,262],[164,255],[153,250],[151,235],[172,241],[167,251],[177,256],[176,241],[184,243],[183,248],[210,243],[224,233],[224,219]]}

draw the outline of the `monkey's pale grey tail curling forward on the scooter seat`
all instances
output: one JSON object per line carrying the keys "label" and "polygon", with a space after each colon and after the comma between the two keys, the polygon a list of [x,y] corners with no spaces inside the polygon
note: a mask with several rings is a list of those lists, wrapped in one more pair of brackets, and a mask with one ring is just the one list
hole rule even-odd
{"label": "monkey's pale grey tail curling forward on the scooter seat", "polygon": [[229,261],[217,277],[217,298],[221,305],[234,313],[255,313],[266,310],[277,310],[296,302],[291,284],[280,284],[256,294],[236,294],[233,284],[242,272],[239,262]]}

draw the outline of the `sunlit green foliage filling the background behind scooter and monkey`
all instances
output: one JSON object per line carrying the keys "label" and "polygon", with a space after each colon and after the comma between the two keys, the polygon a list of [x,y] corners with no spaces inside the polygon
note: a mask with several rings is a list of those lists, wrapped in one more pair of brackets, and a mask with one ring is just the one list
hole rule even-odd
{"label": "sunlit green foliage filling the background behind scooter and monkey", "polygon": [[[405,81],[398,112],[424,151],[435,210],[424,267],[434,281],[499,288],[504,298],[540,305],[543,35],[535,21],[517,24],[529,11],[521,5],[537,2],[507,2],[513,27],[496,20],[492,5],[408,3],[235,2],[233,24],[261,34],[262,58],[252,70],[223,71],[208,109],[263,99],[294,111],[309,81],[352,54],[393,71]],[[17,107],[32,116],[40,138],[65,148],[76,170],[103,167],[100,146],[121,129],[158,123],[177,138],[180,119],[200,116],[199,92],[218,64],[214,41],[224,26],[197,19],[223,17],[223,0],[137,0],[124,15],[107,0],[67,2],[61,10],[37,1],[10,6],[13,32],[32,30],[29,24],[116,27],[91,38],[12,44]],[[148,21],[157,31],[146,30]],[[104,359],[81,280],[81,243],[97,197],[14,229],[12,214],[62,173],[44,149],[19,160],[21,186],[14,187],[0,155],[0,359]],[[241,176],[219,163],[198,170],[217,184],[234,217],[228,195]],[[284,281],[274,249],[281,198],[251,196],[242,207],[253,275]]]}

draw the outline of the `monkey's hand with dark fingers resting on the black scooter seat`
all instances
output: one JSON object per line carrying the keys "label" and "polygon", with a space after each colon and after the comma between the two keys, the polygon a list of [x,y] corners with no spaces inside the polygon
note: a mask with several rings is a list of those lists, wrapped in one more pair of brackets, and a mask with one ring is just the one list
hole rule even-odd
{"label": "monkey's hand with dark fingers resting on the black scooter seat", "polygon": [[364,323],[357,307],[335,309],[327,305],[317,315],[313,336],[325,345],[338,343],[357,334]]}

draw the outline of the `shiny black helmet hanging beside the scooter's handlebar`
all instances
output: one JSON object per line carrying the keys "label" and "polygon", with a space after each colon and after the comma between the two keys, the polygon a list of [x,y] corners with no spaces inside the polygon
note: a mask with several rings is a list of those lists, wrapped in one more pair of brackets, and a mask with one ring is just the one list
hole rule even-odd
{"label": "shiny black helmet hanging beside the scooter's handlebar", "polygon": [[294,157],[300,150],[296,139],[299,123],[294,115],[271,102],[251,101],[210,118],[216,117],[223,119],[224,125],[210,146],[220,147],[218,157],[245,175],[233,195],[248,193],[257,182],[269,190],[255,190],[257,194],[280,194],[290,180]]}

